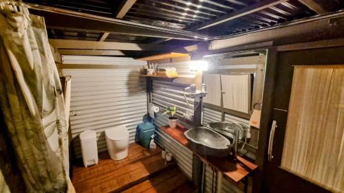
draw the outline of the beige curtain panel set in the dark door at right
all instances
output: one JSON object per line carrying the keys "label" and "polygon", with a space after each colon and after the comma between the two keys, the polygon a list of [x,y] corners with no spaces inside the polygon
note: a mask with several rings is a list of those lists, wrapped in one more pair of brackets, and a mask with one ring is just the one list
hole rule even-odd
{"label": "beige curtain panel set in the dark door at right", "polygon": [[344,65],[294,68],[281,167],[344,192]]}

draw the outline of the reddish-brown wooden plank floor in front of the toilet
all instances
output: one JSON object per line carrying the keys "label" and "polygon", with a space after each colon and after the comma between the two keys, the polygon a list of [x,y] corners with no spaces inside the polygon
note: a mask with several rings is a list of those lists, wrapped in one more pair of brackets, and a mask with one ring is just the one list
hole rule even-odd
{"label": "reddish-brown wooden plank floor in front of the toilet", "polygon": [[160,148],[147,150],[138,144],[130,144],[129,156],[121,161],[103,152],[97,165],[76,163],[72,183],[76,192],[197,192],[174,162],[165,164]]}

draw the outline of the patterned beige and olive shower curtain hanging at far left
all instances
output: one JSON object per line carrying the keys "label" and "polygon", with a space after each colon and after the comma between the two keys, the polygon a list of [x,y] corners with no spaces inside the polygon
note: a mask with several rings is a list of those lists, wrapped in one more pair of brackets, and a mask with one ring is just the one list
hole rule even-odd
{"label": "patterned beige and olive shower curtain hanging at far left", "polygon": [[[67,122],[44,19],[0,6],[0,104],[25,192],[67,192]],[[3,155],[1,155],[3,156]],[[1,170],[0,188],[15,192]]]}

